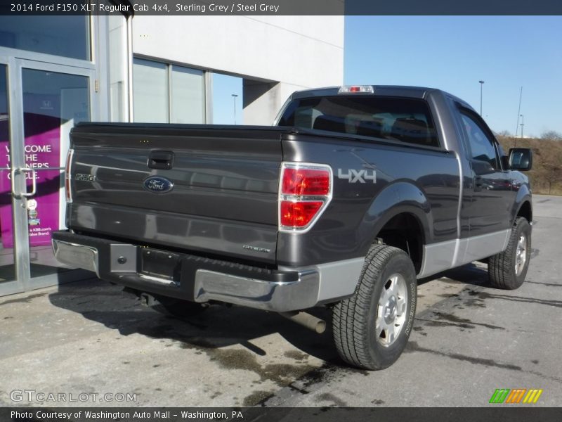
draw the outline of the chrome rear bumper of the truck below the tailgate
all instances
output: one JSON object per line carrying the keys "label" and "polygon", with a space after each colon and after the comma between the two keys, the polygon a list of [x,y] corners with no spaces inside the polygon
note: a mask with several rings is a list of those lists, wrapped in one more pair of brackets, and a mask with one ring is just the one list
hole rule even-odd
{"label": "chrome rear bumper of the truck below the tailgate", "polygon": [[[100,279],[121,283],[141,291],[170,295],[171,297],[195,300],[195,302],[219,302],[243,305],[273,312],[289,312],[307,309],[318,303],[320,290],[320,273],[317,269],[298,271],[294,281],[267,281],[246,276],[226,274],[210,269],[196,269],[186,274],[189,282],[174,281],[148,277],[136,271],[136,254],[129,253],[126,269],[117,270],[115,263],[115,243],[107,242],[100,249],[91,245],[61,241],[53,238],[53,251],[60,262],[73,267],[94,271]],[[119,254],[123,250],[136,248],[133,245],[119,245]],[[100,274],[100,256],[105,262]],[[296,271],[287,271],[288,274]],[[284,272],[280,271],[283,275]],[[192,279],[195,278],[195,281]]]}

